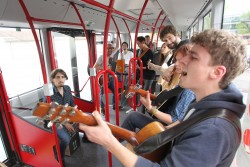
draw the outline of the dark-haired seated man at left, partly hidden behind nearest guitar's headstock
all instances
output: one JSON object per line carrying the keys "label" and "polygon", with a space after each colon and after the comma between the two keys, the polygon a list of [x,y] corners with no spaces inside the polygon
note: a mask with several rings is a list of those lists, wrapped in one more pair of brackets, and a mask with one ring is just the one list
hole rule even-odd
{"label": "dark-haired seated man at left, partly hidden behind nearest guitar's headstock", "polygon": [[[74,106],[74,99],[71,94],[71,89],[68,85],[64,85],[65,81],[68,79],[66,72],[62,69],[55,69],[50,74],[50,79],[53,84],[54,94],[50,97],[52,102],[57,102],[60,105]],[[70,142],[69,132],[74,132],[74,127],[70,123],[64,123],[63,126],[56,128],[57,136],[60,140],[60,152],[65,166],[65,150]]]}

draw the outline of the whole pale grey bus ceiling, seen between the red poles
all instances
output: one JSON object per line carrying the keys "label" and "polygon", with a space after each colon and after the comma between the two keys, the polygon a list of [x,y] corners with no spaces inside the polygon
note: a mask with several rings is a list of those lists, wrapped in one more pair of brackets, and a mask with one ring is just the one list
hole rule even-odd
{"label": "whole pale grey bus ceiling, seen between the red poles", "polygon": [[[107,11],[99,7],[90,5],[84,0],[23,0],[31,17],[45,20],[56,20],[79,24],[79,18],[70,5],[74,2],[81,14],[87,29],[103,31]],[[109,6],[109,0],[96,0],[96,2]],[[115,0],[114,9],[125,13],[133,18],[139,18],[143,0]],[[208,0],[149,0],[142,16],[142,21],[154,25],[160,12],[159,27],[163,18],[167,16],[163,25],[173,24],[178,30],[186,30],[194,21]],[[0,1],[0,26],[29,27],[24,12],[18,0]],[[128,32],[122,16],[113,14],[120,32]],[[34,22],[35,26],[40,27],[69,27],[65,24]],[[127,19],[127,24],[131,32],[136,29],[135,20]],[[72,26],[71,26],[72,27]],[[81,26],[75,26],[81,28]],[[151,32],[151,26],[141,24],[139,32]],[[116,28],[111,21],[110,31],[115,32]],[[156,29],[157,31],[157,29]]]}

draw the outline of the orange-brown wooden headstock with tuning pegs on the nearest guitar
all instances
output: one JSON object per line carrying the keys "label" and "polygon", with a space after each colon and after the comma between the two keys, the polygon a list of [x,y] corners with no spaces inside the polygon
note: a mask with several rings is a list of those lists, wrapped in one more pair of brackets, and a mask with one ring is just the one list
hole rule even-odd
{"label": "orange-brown wooden headstock with tuning pegs on the nearest guitar", "polygon": [[83,113],[77,109],[77,106],[71,107],[66,105],[58,105],[56,102],[37,104],[33,111],[33,115],[39,117],[37,119],[38,124],[42,124],[44,120],[50,120],[48,127],[51,127],[53,123],[58,122],[64,124],[66,122],[79,122],[89,125],[96,125],[96,121],[93,116]]}

